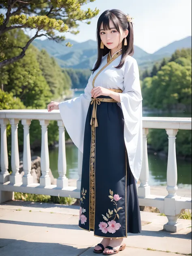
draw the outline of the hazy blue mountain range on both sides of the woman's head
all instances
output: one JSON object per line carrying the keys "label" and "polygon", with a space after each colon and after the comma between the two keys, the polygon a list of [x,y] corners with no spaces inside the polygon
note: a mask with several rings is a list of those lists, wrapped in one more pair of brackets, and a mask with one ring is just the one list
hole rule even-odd
{"label": "hazy blue mountain range on both sides of the woman's head", "polygon": [[[170,57],[176,49],[191,48],[191,39],[192,37],[188,36],[170,43],[152,54],[147,53],[140,47],[134,45],[133,57],[137,60],[139,68],[145,69],[153,65],[154,62],[162,60],[164,57]],[[70,42],[73,46],[66,47],[65,44],[67,42]],[[78,43],[76,41],[66,39],[62,43],[56,43],[49,39],[44,41],[36,39],[33,41],[33,45],[40,50],[45,49],[63,68],[90,69],[97,58],[97,42],[93,40]]]}

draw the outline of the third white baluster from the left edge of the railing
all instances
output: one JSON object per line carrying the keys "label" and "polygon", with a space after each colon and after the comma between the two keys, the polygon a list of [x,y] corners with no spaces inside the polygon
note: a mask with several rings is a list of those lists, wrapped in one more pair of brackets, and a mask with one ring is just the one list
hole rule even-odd
{"label": "third white baluster from the left edge of the railing", "polygon": [[30,134],[29,127],[31,120],[21,120],[23,125],[23,185],[27,186],[33,183],[33,177],[31,175],[31,149],[30,149]]}

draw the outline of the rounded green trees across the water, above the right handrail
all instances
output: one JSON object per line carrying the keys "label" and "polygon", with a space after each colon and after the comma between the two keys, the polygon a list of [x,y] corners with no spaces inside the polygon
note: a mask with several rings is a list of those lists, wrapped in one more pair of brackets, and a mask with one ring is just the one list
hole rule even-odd
{"label": "rounded green trees across the water, above the right handrail", "polygon": [[[182,56],[183,51],[180,53]],[[183,105],[190,110],[191,54],[184,58],[177,51],[176,55],[175,61],[168,62],[156,75],[143,80],[143,106],[148,109],[172,110]]]}

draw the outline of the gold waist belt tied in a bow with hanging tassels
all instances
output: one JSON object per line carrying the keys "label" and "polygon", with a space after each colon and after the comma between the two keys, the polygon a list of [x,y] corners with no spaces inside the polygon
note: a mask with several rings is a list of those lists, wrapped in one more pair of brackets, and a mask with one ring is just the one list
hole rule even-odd
{"label": "gold waist belt tied in a bow with hanging tassels", "polygon": [[[120,89],[109,89],[110,91],[113,92],[119,92],[122,93],[123,91]],[[93,104],[93,111],[92,111],[92,117],[91,117],[91,122],[90,125],[92,126],[93,124],[93,118],[95,119],[95,127],[98,127],[98,122],[97,122],[97,105],[100,105],[102,102],[117,102],[117,100],[114,100],[112,98],[91,98],[91,105]]]}

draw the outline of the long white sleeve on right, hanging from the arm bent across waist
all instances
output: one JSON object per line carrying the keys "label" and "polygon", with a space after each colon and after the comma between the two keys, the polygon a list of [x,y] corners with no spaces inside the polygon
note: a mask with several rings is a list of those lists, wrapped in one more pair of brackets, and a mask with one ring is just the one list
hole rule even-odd
{"label": "long white sleeve on right, hanging from the arm bent across waist", "polygon": [[[130,57],[130,56],[129,56]],[[124,66],[124,91],[119,93],[124,115],[124,139],[129,165],[138,181],[141,173],[142,145],[142,95],[137,61],[130,57]]]}

